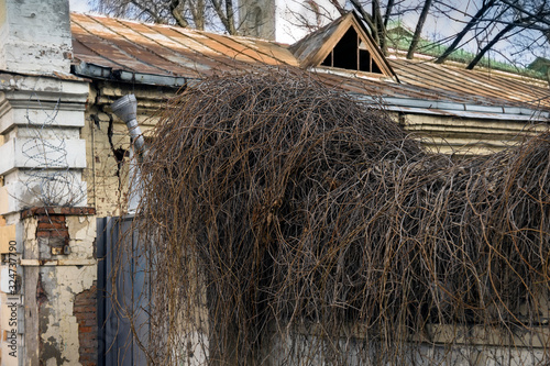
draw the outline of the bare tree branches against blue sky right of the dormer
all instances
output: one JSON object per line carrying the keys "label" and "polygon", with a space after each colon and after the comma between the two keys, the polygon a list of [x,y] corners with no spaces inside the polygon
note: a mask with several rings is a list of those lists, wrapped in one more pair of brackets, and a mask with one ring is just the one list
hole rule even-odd
{"label": "bare tree branches against blue sky right of the dormer", "polygon": [[[515,51],[515,54],[521,54],[527,49],[526,47],[532,51],[532,45],[536,44],[535,41],[529,43],[524,37],[530,40],[547,37],[550,41],[550,0],[477,0],[472,4],[476,5],[476,11],[472,14],[453,8],[451,1],[442,0],[349,0],[348,9],[358,11],[384,53],[387,52],[387,27],[392,20],[400,19],[421,9],[416,20],[407,58],[413,58],[414,53],[418,51],[424,25],[430,16],[443,18],[453,23],[463,22],[463,29],[455,35],[430,40],[433,44],[450,42],[440,55],[435,56],[438,64],[447,60],[454,51],[469,42],[480,45],[466,66],[474,68],[490,51],[495,51],[499,43],[508,42],[519,45],[522,42],[524,49],[518,49],[519,46],[516,46]],[[450,10],[461,13],[462,19],[453,19],[448,14]],[[537,33],[539,36],[536,36]]]}

